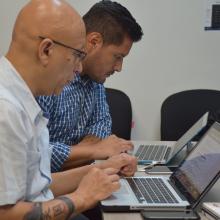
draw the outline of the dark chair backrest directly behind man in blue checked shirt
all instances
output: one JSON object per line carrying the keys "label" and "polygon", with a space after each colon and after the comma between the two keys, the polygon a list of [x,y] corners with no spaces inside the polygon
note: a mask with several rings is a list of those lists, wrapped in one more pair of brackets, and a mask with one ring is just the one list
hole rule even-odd
{"label": "dark chair backrest directly behind man in blue checked shirt", "polygon": [[131,138],[132,108],[129,97],[117,89],[106,88],[106,98],[112,117],[112,134]]}

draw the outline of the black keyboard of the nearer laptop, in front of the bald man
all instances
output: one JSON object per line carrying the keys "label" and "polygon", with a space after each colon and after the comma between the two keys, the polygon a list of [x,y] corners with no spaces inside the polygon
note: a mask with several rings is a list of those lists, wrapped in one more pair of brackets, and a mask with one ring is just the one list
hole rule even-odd
{"label": "black keyboard of the nearer laptop, in front of the bald man", "polygon": [[140,203],[179,203],[161,178],[127,178]]}

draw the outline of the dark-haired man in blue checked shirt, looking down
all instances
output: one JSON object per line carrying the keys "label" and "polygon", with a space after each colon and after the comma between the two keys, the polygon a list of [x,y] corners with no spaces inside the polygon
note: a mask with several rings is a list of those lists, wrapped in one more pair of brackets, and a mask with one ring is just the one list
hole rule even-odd
{"label": "dark-haired man in blue checked shirt, looking down", "polygon": [[101,1],[84,16],[87,56],[83,71],[61,95],[39,97],[49,115],[52,172],[105,159],[132,149],[132,143],[111,135],[111,117],[103,83],[115,71],[133,42],[143,33],[130,12],[117,2]]}

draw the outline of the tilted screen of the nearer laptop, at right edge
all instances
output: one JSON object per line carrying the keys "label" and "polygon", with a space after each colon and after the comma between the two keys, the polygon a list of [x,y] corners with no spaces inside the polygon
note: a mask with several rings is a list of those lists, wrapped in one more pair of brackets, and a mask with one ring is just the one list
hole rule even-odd
{"label": "tilted screen of the nearer laptop, at right edge", "polygon": [[209,189],[220,173],[220,124],[214,123],[171,180],[193,204]]}

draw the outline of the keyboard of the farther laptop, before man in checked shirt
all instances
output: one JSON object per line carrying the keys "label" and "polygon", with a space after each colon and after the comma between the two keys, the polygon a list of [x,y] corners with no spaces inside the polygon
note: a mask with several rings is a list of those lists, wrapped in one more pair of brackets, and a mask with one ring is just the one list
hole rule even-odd
{"label": "keyboard of the farther laptop, before man in checked shirt", "polygon": [[138,160],[162,161],[168,158],[170,150],[166,145],[140,145],[135,156]]}

